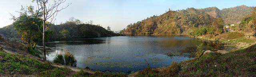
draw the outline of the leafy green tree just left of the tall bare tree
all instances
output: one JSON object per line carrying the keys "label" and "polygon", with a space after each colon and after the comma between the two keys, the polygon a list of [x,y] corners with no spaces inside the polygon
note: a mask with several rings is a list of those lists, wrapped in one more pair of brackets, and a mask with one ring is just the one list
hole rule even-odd
{"label": "leafy green tree just left of the tall bare tree", "polygon": [[42,25],[41,19],[35,15],[28,15],[27,11],[22,8],[24,12],[20,12],[19,17],[13,17],[13,27],[18,34],[21,35],[22,40],[27,43],[27,50],[34,50],[39,38],[41,37],[37,25]]}

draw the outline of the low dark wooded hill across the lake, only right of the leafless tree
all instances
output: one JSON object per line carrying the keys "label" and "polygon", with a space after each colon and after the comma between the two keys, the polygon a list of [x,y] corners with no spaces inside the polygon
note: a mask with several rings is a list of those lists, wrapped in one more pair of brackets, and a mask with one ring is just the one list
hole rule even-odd
{"label": "low dark wooded hill across the lake, only right of the leafless tree", "polygon": [[110,37],[117,36],[113,31],[108,31],[100,25],[80,24],[76,25],[72,22],[67,22],[61,25],[54,25],[50,29],[53,35],[50,38],[62,38],[61,31],[68,30],[71,38],[92,38],[92,37]]}

